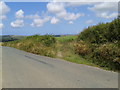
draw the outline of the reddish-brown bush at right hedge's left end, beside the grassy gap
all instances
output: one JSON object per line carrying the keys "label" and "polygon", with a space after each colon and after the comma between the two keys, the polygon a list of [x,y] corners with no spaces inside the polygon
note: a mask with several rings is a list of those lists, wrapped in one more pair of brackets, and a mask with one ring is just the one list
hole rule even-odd
{"label": "reddish-brown bush at right hedge's left end, beside the grassy gap", "polygon": [[82,40],[77,42],[74,46],[75,46],[75,53],[79,55],[85,56],[89,54],[91,51],[89,46]]}

